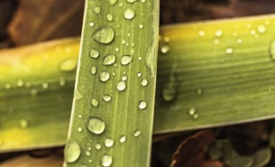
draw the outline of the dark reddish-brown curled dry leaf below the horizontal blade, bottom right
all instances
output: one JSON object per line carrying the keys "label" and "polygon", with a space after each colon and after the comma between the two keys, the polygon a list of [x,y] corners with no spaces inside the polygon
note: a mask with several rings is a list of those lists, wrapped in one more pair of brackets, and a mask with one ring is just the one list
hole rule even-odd
{"label": "dark reddish-brown curled dry leaf below the horizontal blade, bottom right", "polygon": [[215,141],[212,131],[201,131],[188,137],[173,155],[170,167],[223,167],[223,163],[206,160],[206,145]]}

